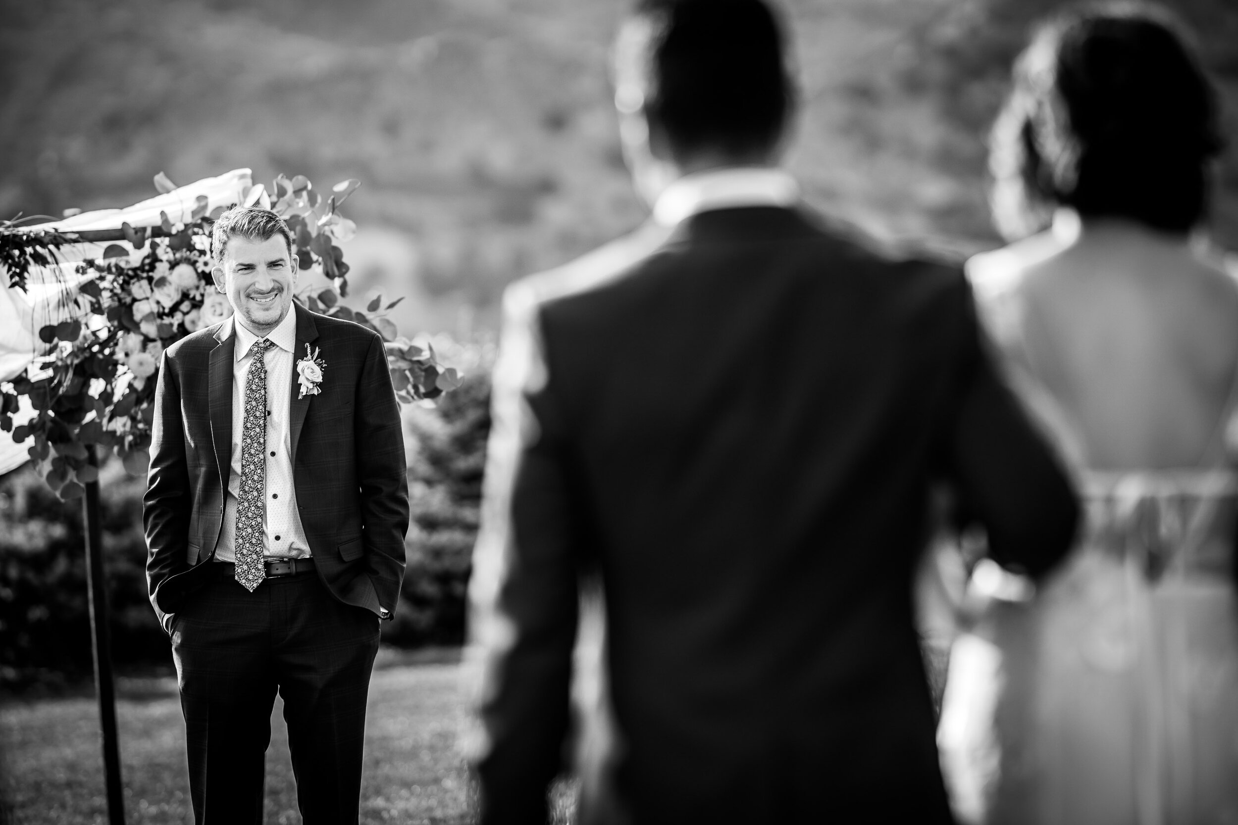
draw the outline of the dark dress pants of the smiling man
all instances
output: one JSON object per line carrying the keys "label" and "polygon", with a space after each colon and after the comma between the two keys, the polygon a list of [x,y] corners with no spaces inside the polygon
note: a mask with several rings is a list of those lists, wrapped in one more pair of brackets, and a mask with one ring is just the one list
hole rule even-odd
{"label": "dark dress pants of the smiling man", "polygon": [[194,821],[261,824],[279,690],[302,820],[357,823],[378,647],[378,616],[337,601],[313,570],[254,592],[220,575],[193,594],[173,618],[172,656]]}

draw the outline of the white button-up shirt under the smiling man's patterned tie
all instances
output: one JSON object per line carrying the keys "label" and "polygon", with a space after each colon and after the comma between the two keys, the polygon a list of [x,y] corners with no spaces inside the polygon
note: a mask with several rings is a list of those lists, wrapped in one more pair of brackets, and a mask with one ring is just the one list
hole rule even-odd
{"label": "white button-up shirt under the smiling man's patterned tie", "polygon": [[[233,335],[236,336],[233,362],[233,449],[232,472],[228,476],[228,495],[224,497],[224,523],[215,545],[217,562],[235,562],[233,543],[236,537],[236,496],[240,494],[240,442],[245,432],[245,377],[254,360],[250,348],[259,339],[233,315]],[[275,346],[266,350],[266,490],[262,500],[266,511],[264,558],[310,558],[301,516],[297,513],[297,494],[292,485],[292,430],[288,404],[292,392],[293,349],[297,345],[296,313],[288,314],[280,325],[266,335]]]}

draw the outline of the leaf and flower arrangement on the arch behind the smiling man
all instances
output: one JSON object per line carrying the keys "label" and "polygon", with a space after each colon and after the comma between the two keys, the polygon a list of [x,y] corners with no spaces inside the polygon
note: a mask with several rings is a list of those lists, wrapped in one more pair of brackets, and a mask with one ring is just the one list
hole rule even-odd
{"label": "leaf and flower arrangement on the arch behind the smiling man", "polygon": [[[155,177],[161,192],[172,186],[162,172]],[[350,237],[357,226],[337,207],[359,186],[359,181],[344,181],[322,199],[305,176],[288,179],[281,174],[272,186],[274,199],[261,184],[250,187],[241,198],[245,205],[282,215],[301,266],[321,267],[332,281],[317,296],[296,296],[297,301],[313,312],[383,335],[400,400],[433,398],[454,388],[458,376],[436,361],[432,348],[399,338],[395,324],[384,317],[399,299],[385,309],[381,298],[371,302],[369,317],[339,303],[348,294],[348,265],[333,241]],[[160,356],[181,338],[232,314],[228,299],[210,286],[214,261],[209,236],[222,208],[208,216],[207,205],[199,195],[189,224],[172,224],[162,214],[157,239],[156,228],[135,230],[123,224],[126,241],[142,250],[150,239],[150,250],[128,255],[118,246],[119,255],[105,252],[102,260],[79,263],[77,273],[87,281],[77,297],[77,317],[43,327],[38,335],[50,351],[25,375],[0,385],[0,429],[11,430],[19,443],[33,439],[30,458],[62,500],[79,497],[83,485],[95,480],[92,449],[114,449],[130,474],[146,471]],[[0,224],[0,255],[10,265],[10,284],[24,287],[32,265],[46,262],[56,246],[74,237],[72,233],[45,236],[37,228]],[[17,396],[30,397],[36,416],[14,427]]]}

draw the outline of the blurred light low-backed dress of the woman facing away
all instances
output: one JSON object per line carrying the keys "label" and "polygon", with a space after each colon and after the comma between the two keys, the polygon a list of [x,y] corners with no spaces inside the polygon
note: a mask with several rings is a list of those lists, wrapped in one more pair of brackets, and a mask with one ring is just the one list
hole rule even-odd
{"label": "blurred light low-backed dress of the woman facing away", "polygon": [[1077,459],[1072,555],[956,642],[938,745],[961,820],[1238,823],[1236,396],[1195,466],[1102,472]]}

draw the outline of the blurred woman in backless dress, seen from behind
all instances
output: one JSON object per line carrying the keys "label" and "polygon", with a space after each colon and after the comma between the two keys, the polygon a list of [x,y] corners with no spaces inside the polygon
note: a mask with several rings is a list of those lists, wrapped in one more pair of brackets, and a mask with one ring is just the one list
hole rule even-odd
{"label": "blurred woman in backless dress, seen from behind", "polygon": [[1088,518],[1035,595],[973,574],[997,597],[953,649],[947,784],[963,821],[1236,823],[1238,286],[1197,231],[1214,92],[1146,5],[1051,20],[1014,74],[990,166],[1023,240],[968,268]]}

